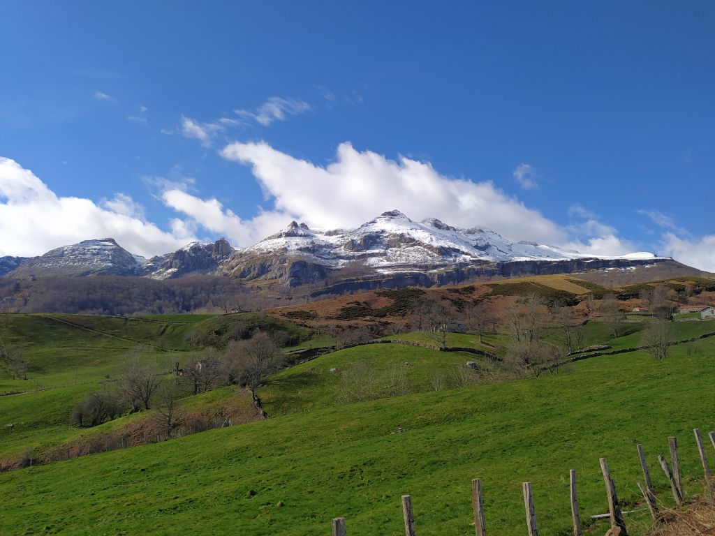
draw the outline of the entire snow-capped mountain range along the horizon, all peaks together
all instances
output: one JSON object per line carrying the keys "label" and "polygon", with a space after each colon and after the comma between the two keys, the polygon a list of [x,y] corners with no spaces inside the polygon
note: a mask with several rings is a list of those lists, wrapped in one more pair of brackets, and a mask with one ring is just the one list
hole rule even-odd
{"label": "entire snow-capped mountain range along the horizon, all peaks together", "polygon": [[[246,249],[233,249],[225,239],[192,242],[149,260],[133,255],[111,238],[85,240],[41,257],[1,257],[0,275],[173,279],[210,274],[283,287],[321,282],[337,288],[336,292],[347,292],[357,282],[358,287],[365,282],[429,286],[470,277],[565,273],[665,260],[652,253],[593,257],[556,246],[511,242],[490,229],[458,229],[434,218],[414,222],[395,210],[357,229],[310,229],[291,222]],[[340,287],[347,281],[352,287]]]}

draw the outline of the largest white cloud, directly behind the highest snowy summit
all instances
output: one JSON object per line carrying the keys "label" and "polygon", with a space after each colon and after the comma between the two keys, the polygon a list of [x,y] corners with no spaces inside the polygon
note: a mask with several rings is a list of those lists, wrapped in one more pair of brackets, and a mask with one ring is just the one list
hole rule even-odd
{"label": "largest white cloud, directly behind the highest snowy summit", "polygon": [[252,167],[274,212],[285,215],[284,224],[297,219],[317,227],[355,227],[397,208],[415,220],[481,225],[511,239],[566,240],[563,229],[491,182],[445,177],[430,164],[406,157],[395,161],[343,143],[335,162],[317,166],[265,142],[235,142],[222,155]]}

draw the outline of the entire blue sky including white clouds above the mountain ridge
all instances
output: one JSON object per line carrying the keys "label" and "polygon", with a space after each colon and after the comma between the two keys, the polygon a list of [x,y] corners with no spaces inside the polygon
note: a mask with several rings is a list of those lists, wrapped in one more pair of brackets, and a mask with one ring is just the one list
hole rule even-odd
{"label": "entire blue sky including white clouds above the mountain ridge", "polygon": [[[715,270],[715,4],[24,2],[0,254],[386,209]],[[8,24],[9,23],[9,24]]]}

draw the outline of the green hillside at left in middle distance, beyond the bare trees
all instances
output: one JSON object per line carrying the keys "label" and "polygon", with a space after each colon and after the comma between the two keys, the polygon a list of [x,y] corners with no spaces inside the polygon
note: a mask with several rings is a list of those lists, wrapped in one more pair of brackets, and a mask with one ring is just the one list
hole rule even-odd
{"label": "green hillside at left in middle distance, beyond the bare trees", "polygon": [[[0,396],[0,460],[86,437],[86,430],[69,423],[72,408],[100,389],[100,381],[116,378],[129,354],[168,371],[198,350],[193,341],[224,347],[234,324],[245,333],[265,329],[286,331],[296,339],[306,336],[295,324],[254,313],[144,318],[1,314],[0,344],[21,349],[29,369],[28,379],[15,379],[0,367],[0,394],[24,393]],[[105,429],[110,428],[107,423]]]}

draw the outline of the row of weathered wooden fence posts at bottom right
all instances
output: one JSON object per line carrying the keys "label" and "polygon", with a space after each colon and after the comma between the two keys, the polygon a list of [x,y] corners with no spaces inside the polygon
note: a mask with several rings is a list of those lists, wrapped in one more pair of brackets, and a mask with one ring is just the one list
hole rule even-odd
{"label": "row of weathered wooden fence posts at bottom right", "polygon": [[[703,441],[700,435],[700,430],[696,428],[695,430],[693,430],[693,433],[695,436],[695,442],[698,448],[700,461],[703,466],[706,490],[711,496],[715,496],[715,482],[710,472],[705,448],[703,446]],[[713,445],[713,448],[715,449],[715,432],[709,432],[708,437]],[[680,473],[678,440],[676,439],[676,437],[669,437],[668,444],[670,450],[671,465],[668,465],[667,460],[662,455],[658,456],[658,461],[661,465],[663,472],[666,475],[666,479],[669,482],[676,505],[682,506],[684,505],[685,494]],[[643,446],[640,444],[636,445],[636,450],[638,451],[638,460],[640,460],[641,471],[643,472],[644,477],[644,484],[641,484],[641,482],[637,482],[638,489],[643,495],[644,501],[649,508],[651,517],[655,522],[660,522],[664,519],[664,515],[663,512],[659,510],[658,500],[653,487],[653,482],[651,481],[651,474],[649,472],[648,465],[646,464],[646,457],[644,455]],[[607,517],[609,517],[611,521],[611,529],[608,531],[607,536],[627,536],[628,533],[626,531],[626,521],[623,517],[621,505],[618,502],[618,494],[616,493],[616,482],[614,482],[613,478],[611,478],[611,472],[608,470],[608,462],[606,462],[606,458],[601,458],[599,462],[601,464],[601,473],[603,474],[603,484],[606,487],[606,496],[608,497]],[[571,490],[570,500],[573,536],[583,536],[581,516],[580,512],[578,511],[578,489],[576,470],[572,469],[568,473],[568,480],[570,483]],[[528,533],[528,536],[538,536],[538,526],[536,523],[536,508],[534,507],[533,502],[531,482],[523,482],[522,492],[524,497],[524,512],[526,515],[526,531]],[[474,480],[472,480],[472,506],[474,510],[475,536],[486,536],[482,481],[479,478],[475,478]],[[415,526],[417,525],[417,523],[412,507],[412,497],[410,497],[410,495],[402,496],[402,507],[403,520],[405,522],[405,536],[415,536]],[[332,535],[347,535],[345,517],[335,517],[335,519],[332,520]]]}

